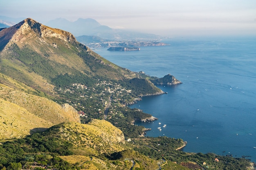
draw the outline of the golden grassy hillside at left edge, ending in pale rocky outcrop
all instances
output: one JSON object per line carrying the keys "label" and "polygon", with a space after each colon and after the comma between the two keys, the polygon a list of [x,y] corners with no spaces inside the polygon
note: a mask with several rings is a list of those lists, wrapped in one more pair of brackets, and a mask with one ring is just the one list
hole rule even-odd
{"label": "golden grassy hillside at left edge, ending in pale rocky outcrop", "polygon": [[80,122],[76,110],[0,84],[0,141],[41,132],[62,122]]}

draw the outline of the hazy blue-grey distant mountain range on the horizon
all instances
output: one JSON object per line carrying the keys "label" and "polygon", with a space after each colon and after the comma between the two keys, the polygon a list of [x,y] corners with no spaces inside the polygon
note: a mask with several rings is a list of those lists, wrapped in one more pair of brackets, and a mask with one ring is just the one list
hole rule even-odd
{"label": "hazy blue-grey distant mountain range on the horizon", "polygon": [[94,19],[79,18],[74,22],[70,22],[63,18],[58,18],[47,22],[45,25],[63,29],[71,32],[75,36],[93,35],[99,36],[103,39],[117,40],[117,39],[159,39],[159,35],[139,33],[134,31],[126,31],[121,29],[112,29],[109,26],[101,25]]}

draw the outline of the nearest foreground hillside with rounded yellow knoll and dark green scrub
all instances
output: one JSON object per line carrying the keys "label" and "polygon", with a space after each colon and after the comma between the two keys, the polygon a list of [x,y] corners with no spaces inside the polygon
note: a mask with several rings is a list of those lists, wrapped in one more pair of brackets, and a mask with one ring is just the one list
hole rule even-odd
{"label": "nearest foreground hillside with rounded yellow knoll and dark green scrub", "polygon": [[[183,144],[182,139],[168,137],[139,137],[128,142],[121,130],[105,120],[92,119],[88,124],[68,122],[2,143],[0,168],[245,170],[250,166],[246,159],[176,150]],[[203,166],[203,162],[207,165]]]}

